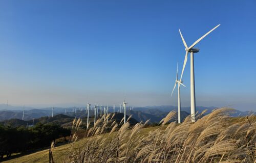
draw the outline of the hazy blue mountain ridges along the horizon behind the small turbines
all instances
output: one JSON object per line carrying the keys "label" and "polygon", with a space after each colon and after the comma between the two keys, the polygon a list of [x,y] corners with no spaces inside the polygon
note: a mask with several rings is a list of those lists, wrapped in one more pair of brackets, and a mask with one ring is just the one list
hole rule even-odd
{"label": "hazy blue mountain ridges along the horizon behind the small turbines", "polygon": [[[23,116],[23,110],[22,107],[18,106],[11,106],[8,105],[8,111],[6,110],[6,104],[0,104],[0,121],[6,120],[6,119],[22,119]],[[1,108],[4,110],[1,110]],[[145,106],[145,107],[133,107],[133,110],[130,111],[130,107],[127,107],[127,115],[133,114],[133,118],[137,121],[146,121],[148,119],[151,119],[151,123],[158,123],[162,118],[164,118],[170,111],[177,111],[177,106],[171,106],[171,105],[162,105],[162,106]],[[204,107],[204,106],[197,106],[197,111],[201,113],[203,110],[207,110],[205,114],[209,114],[217,107],[211,106],[211,107]],[[18,110],[15,110],[18,109]],[[102,107],[103,109],[103,107]],[[115,109],[116,113],[120,112],[120,108],[116,107]],[[109,112],[113,112],[113,107],[109,107]],[[123,111],[122,111],[123,113]],[[181,119],[184,119],[186,116],[188,116],[190,113],[190,107],[182,107],[181,108]],[[255,114],[255,112],[252,112]],[[69,108],[62,108],[62,107],[54,107],[53,115],[67,115],[70,117],[76,117],[76,118],[86,118],[87,112],[86,110],[78,110],[78,107],[69,107]],[[100,114],[100,110],[98,110],[98,114]],[[103,111],[102,111],[103,114]],[[249,112],[241,112],[236,111],[236,113],[233,113],[231,116],[237,117],[237,116],[246,116]],[[33,107],[25,107],[25,114],[24,114],[24,120],[32,120],[37,119],[40,117],[51,117],[52,116],[52,108],[42,108],[37,109]],[[89,116],[94,116],[94,110],[90,110]]]}

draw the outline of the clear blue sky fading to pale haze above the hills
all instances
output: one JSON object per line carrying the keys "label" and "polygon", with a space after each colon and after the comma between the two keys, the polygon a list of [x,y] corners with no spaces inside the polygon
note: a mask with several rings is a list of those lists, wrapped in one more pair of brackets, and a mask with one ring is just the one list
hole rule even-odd
{"label": "clear blue sky fading to pale haze above the hills", "polygon": [[[256,1],[0,1],[0,103],[177,105],[196,47],[197,105],[256,111]],[[190,60],[181,88],[190,105]]]}

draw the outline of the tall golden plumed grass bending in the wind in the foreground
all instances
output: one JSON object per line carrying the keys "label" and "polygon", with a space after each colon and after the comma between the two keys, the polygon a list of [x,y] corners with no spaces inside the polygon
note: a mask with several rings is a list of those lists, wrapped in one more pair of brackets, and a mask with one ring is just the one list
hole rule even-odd
{"label": "tall golden plumed grass bending in the wind in the foreground", "polygon": [[[170,112],[158,129],[146,135],[140,133],[145,126],[142,122],[130,126],[103,116],[76,149],[73,133],[63,162],[255,162],[255,117],[234,121],[230,112],[220,108],[198,115],[195,123],[187,117],[181,124],[168,123],[176,119],[176,113]],[[74,121],[75,131],[80,123]]]}

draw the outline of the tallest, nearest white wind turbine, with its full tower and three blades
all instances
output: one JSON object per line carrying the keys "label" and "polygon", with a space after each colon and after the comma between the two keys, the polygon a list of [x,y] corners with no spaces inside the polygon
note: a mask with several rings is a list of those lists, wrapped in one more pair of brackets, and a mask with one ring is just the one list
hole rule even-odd
{"label": "tallest, nearest white wind turbine, with its full tower and three blades", "polygon": [[191,122],[195,122],[196,121],[196,93],[195,93],[195,75],[194,75],[194,53],[199,52],[198,48],[193,48],[197,43],[199,43],[205,36],[207,36],[209,33],[211,33],[212,31],[214,31],[216,28],[218,28],[219,25],[215,26],[215,28],[213,28],[212,30],[210,30],[209,32],[207,32],[205,35],[203,35],[201,38],[199,38],[197,41],[195,41],[191,46],[187,46],[181,31],[180,31],[180,36],[182,39],[182,42],[185,46],[185,51],[186,51],[186,55],[185,55],[185,59],[184,59],[184,64],[183,64],[183,69],[182,69],[182,73],[181,73],[181,77],[180,80],[182,79],[182,75],[187,63],[187,55],[188,52],[190,52],[190,102],[191,102],[191,108],[190,108],[190,114],[191,114]]}

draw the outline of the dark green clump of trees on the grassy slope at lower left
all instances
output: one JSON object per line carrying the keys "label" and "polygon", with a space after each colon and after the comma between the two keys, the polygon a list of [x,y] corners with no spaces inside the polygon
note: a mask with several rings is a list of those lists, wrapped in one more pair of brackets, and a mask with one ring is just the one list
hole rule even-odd
{"label": "dark green clump of trees on the grassy slope at lower left", "polygon": [[33,127],[0,124],[0,159],[5,155],[10,157],[12,153],[50,146],[52,141],[61,137],[66,141],[70,133],[70,129],[53,123],[37,123]]}

